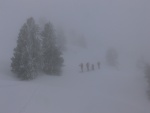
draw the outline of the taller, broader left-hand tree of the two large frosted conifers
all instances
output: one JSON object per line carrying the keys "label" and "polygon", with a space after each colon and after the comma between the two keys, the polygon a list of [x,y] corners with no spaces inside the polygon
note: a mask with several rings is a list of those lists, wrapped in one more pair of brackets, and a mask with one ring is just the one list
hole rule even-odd
{"label": "taller, broader left-hand tree of the two large frosted conifers", "polygon": [[31,17],[22,26],[12,57],[12,71],[21,79],[33,79],[39,68],[38,27]]}

